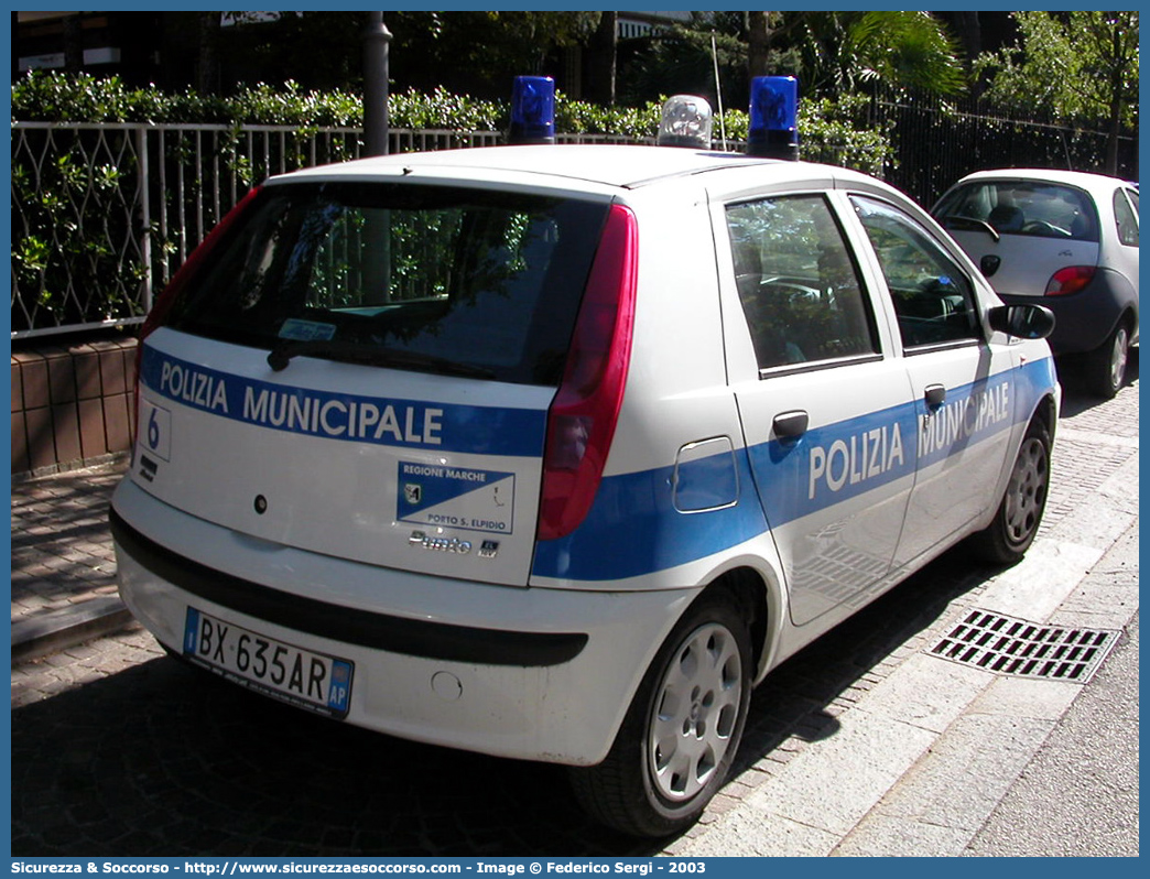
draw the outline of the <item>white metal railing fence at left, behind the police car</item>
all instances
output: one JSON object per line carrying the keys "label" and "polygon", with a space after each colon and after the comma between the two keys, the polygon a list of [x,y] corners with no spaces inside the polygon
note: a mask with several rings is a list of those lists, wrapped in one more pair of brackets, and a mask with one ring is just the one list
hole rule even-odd
{"label": "white metal railing fence at left, behind the police car", "polygon": [[[361,138],[344,128],[13,123],[13,338],[141,321],[154,292],[252,185],[356,159]],[[499,139],[392,130],[390,148]]]}

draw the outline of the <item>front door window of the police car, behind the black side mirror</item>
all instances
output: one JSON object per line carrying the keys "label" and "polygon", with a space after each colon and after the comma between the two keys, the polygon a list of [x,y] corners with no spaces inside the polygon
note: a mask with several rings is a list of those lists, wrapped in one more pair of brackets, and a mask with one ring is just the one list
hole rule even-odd
{"label": "front door window of the police car, behind the black side mirror", "polygon": [[942,245],[894,205],[861,196],[851,202],[887,278],[904,347],[981,338],[972,283]]}

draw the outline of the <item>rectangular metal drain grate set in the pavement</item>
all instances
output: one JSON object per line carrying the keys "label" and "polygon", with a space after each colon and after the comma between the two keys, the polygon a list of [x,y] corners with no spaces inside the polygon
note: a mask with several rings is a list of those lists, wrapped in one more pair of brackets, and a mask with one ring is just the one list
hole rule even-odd
{"label": "rectangular metal drain grate set in the pavement", "polygon": [[930,652],[999,674],[1086,683],[1118,635],[1113,629],[1050,626],[973,610]]}

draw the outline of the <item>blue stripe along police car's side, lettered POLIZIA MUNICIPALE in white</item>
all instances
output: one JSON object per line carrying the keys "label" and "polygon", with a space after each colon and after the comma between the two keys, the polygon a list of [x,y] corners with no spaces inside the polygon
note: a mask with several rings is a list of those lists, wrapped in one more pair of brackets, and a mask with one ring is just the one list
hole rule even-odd
{"label": "blue stripe along police car's side, lettered POLIZIA MUNICIPALE in white", "polygon": [[[738,503],[724,509],[677,511],[672,467],[605,477],[588,518],[574,533],[538,543],[531,573],[603,582],[651,574],[729,550],[764,534],[768,515],[770,527],[779,528],[908,476],[917,466],[936,465],[1009,429],[1017,420],[1028,420],[1053,385],[1053,361],[1042,359],[952,389],[943,406],[931,413],[934,423],[923,431],[919,426],[926,404],[914,400],[812,429],[797,442],[772,440],[737,450]],[[902,459],[892,449],[895,426],[903,444]],[[877,445],[872,445],[872,437]],[[812,479],[815,449],[827,456],[823,468],[831,468],[819,480]],[[838,451],[831,454],[831,449]],[[767,515],[756,495],[752,459],[760,475],[768,474],[769,484],[759,486],[769,498]],[[812,481],[816,482],[813,487]]]}

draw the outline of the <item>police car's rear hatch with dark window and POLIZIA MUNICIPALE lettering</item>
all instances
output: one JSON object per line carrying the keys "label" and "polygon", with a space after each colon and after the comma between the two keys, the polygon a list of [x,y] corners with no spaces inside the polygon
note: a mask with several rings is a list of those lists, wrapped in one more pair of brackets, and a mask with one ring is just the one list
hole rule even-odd
{"label": "police car's rear hatch with dark window and POLIZIA MUNICIPALE lettering", "polygon": [[526,586],[605,201],[274,183],[141,343],[132,479],[275,544]]}

